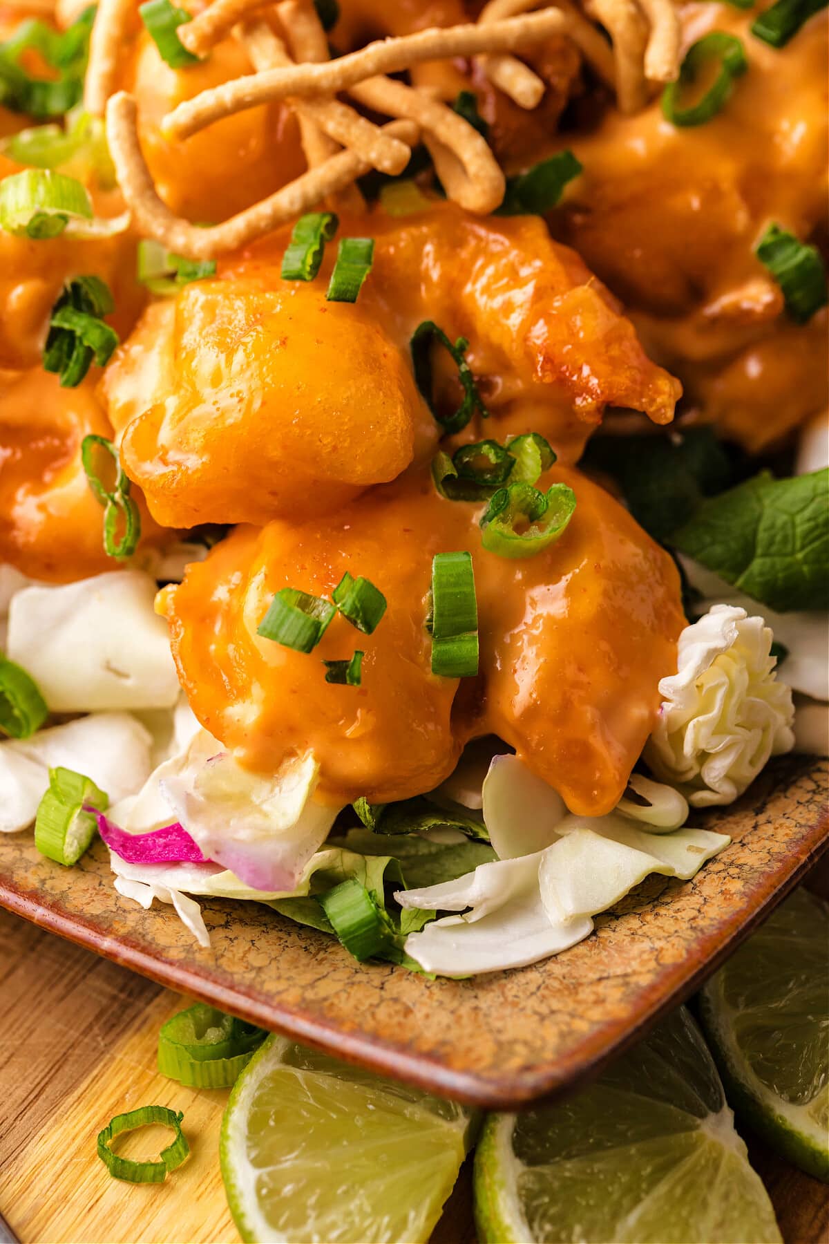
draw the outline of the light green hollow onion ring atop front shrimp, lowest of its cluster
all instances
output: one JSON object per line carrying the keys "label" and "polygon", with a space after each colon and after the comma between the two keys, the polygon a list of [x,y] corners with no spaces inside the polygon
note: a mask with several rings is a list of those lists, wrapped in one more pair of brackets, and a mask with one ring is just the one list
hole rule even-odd
{"label": "light green hollow onion ring atop front shrimp, lowest of its cluster", "polygon": [[558,540],[574,509],[575,494],[567,484],[553,484],[546,493],[508,484],[481,515],[483,547],[498,557],[534,557]]}

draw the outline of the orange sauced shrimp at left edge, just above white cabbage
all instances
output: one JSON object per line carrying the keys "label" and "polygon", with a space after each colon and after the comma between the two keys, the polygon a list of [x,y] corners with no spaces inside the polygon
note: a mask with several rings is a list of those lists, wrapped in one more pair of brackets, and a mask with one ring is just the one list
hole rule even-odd
{"label": "orange sauced shrimp at left edge, just above white cabbage", "polygon": [[58,583],[118,569],[104,552],[103,510],[81,465],[89,433],[112,437],[91,377],[61,388],[57,376],[32,368],[2,381],[0,562]]}

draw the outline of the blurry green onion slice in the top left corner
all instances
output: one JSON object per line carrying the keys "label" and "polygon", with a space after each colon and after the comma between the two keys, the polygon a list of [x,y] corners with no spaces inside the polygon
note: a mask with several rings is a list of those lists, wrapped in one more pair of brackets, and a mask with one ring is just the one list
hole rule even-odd
{"label": "blurry green onion slice in the top left corner", "polygon": [[[73,108],[83,92],[89,30],[94,7],[85,11],[62,34],[42,21],[22,21],[14,34],[0,44],[0,104],[12,112],[31,117],[61,117]],[[20,58],[35,51],[57,73],[37,78],[29,73]]]}

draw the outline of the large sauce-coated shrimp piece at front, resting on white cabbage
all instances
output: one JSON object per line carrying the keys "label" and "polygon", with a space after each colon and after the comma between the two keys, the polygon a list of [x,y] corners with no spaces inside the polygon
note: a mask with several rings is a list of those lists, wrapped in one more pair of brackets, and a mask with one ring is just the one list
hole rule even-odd
{"label": "large sauce-coated shrimp piece at front, resting on white cabbage", "polygon": [[[573,519],[534,557],[481,545],[481,506],[440,498],[428,471],[373,489],[326,522],[237,529],[165,593],[173,653],[203,724],[244,764],[275,769],[312,748],[321,791],[344,804],[431,790],[464,744],[497,733],[579,814],[609,811],[659,709],[684,626],[671,559],[609,494],[554,466]],[[431,673],[431,560],[472,551],[480,629],[474,679]],[[336,617],[311,653],[256,628],[283,587],[329,596],[349,571],[388,608],[373,634]],[[364,651],[360,687],[327,683],[323,659]]]}

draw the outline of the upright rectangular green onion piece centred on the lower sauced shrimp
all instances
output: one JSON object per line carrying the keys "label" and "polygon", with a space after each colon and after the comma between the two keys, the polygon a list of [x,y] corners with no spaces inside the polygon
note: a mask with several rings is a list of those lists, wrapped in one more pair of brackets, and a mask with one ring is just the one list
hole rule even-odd
{"label": "upright rectangular green onion piece centred on the lower sauced shrimp", "polygon": [[431,562],[431,672],[474,678],[479,667],[477,598],[469,552],[439,552]]}

